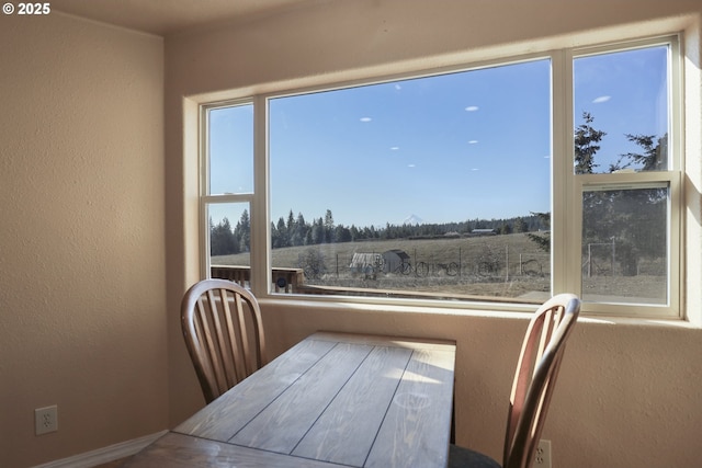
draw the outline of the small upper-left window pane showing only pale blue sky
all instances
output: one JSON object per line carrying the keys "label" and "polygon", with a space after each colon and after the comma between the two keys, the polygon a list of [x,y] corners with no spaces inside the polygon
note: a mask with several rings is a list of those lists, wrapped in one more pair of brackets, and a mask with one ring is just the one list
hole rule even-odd
{"label": "small upper-left window pane showing only pale blue sky", "polygon": [[211,109],[210,193],[253,193],[253,105]]}

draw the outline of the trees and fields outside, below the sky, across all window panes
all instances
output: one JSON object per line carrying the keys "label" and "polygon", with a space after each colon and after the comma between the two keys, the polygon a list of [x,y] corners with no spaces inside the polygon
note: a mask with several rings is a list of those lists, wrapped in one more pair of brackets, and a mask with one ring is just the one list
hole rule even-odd
{"label": "trees and fields outside, below the sky, across all window panes", "polygon": [[[595,155],[604,132],[584,113],[575,134],[575,172],[599,172]],[[639,152],[621,155],[605,171],[664,171],[667,135],[626,135]],[[667,300],[666,186],[582,193],[581,294],[593,300]],[[304,272],[298,292],[405,297],[520,298],[551,292],[551,214],[442,225],[409,221],[384,227],[336,224],[333,214],[302,213],[271,224],[273,269]],[[250,219],[210,222],[211,264],[249,266]]]}

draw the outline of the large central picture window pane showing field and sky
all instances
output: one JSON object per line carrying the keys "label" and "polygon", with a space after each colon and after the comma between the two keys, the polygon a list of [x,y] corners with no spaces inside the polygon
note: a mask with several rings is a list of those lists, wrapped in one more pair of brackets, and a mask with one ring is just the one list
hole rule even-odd
{"label": "large central picture window pane showing field and sky", "polygon": [[537,60],[270,100],[274,269],[309,294],[548,297],[550,91]]}

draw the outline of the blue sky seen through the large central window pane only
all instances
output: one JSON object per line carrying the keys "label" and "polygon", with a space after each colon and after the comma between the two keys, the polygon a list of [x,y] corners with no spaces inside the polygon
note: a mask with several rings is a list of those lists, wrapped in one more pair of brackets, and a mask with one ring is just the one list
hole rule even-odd
{"label": "blue sky seen through the large central window pane only", "polygon": [[297,213],[299,186],[303,215],[347,226],[547,210],[548,75],[541,60],[273,101],[273,213]]}

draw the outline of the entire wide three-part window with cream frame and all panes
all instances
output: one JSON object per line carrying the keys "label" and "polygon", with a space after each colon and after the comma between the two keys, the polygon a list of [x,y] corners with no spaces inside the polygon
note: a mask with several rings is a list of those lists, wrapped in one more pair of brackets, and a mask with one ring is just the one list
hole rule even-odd
{"label": "entire wide three-part window with cream frame and all panes", "polygon": [[207,271],[259,295],[568,290],[673,316],[676,77],[669,37],[207,105]]}

